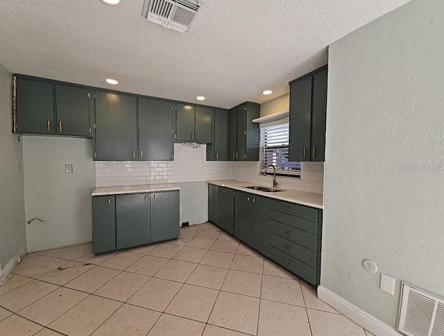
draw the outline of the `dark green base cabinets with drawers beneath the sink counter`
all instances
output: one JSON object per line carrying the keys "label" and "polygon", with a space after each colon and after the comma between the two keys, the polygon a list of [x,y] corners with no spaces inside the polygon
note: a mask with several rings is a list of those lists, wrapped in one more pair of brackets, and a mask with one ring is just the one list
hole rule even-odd
{"label": "dark green base cabinets with drawers beneath the sink counter", "polygon": [[[321,209],[232,191],[212,184],[208,185],[208,190],[209,215],[214,224],[299,278],[312,285],[319,285],[323,221]],[[225,194],[221,195],[224,190]],[[232,197],[231,201],[227,197]],[[227,204],[234,204],[234,209]],[[228,222],[234,223],[234,230],[224,226],[221,209],[222,218],[228,218]]]}

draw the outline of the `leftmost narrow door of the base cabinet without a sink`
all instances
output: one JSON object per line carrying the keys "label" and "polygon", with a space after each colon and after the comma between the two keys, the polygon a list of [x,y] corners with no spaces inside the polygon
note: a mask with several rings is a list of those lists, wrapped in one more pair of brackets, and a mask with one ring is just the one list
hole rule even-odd
{"label": "leftmost narrow door of the base cabinet without a sink", "polygon": [[116,249],[116,197],[92,197],[92,251],[94,254]]}

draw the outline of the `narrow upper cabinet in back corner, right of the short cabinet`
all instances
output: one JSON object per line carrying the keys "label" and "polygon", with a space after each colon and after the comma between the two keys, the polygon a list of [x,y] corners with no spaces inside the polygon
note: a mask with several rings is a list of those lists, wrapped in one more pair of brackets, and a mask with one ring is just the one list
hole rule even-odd
{"label": "narrow upper cabinet in back corner, right of the short cabinet", "polygon": [[207,144],[208,161],[228,160],[228,120],[229,114],[226,109],[214,109],[213,139]]}

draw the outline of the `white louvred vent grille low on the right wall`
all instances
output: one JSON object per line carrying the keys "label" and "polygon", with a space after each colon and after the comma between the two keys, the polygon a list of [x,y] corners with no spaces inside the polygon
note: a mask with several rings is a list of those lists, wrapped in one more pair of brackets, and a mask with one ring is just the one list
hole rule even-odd
{"label": "white louvred vent grille low on the right wall", "polygon": [[402,283],[398,330],[407,336],[444,335],[444,300]]}

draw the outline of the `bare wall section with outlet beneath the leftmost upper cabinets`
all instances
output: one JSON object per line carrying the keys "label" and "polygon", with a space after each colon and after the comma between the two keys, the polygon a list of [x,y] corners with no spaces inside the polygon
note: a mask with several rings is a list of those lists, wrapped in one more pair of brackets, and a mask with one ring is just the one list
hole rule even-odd
{"label": "bare wall section with outlet beneath the leftmost upper cabinets", "polygon": [[[92,140],[24,136],[24,184],[29,251],[89,242],[95,186]],[[65,173],[65,165],[73,173]]]}

